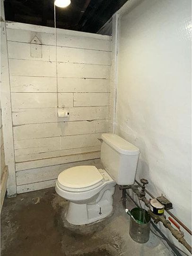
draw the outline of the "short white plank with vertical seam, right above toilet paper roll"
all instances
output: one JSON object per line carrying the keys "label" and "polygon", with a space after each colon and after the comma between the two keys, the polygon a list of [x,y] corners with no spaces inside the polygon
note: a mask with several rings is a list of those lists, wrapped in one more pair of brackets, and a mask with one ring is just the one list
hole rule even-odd
{"label": "short white plank with vertical seam, right above toilet paper roll", "polygon": [[74,93],[74,107],[109,106],[110,93]]}

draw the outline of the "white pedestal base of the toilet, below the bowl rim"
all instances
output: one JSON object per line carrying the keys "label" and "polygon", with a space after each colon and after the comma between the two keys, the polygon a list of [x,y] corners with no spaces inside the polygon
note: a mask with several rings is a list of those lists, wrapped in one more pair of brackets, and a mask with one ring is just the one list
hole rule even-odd
{"label": "white pedestal base of the toilet, below the bowl rim", "polygon": [[73,225],[85,225],[104,219],[113,212],[114,187],[104,192],[97,202],[87,204],[69,203],[66,220]]}

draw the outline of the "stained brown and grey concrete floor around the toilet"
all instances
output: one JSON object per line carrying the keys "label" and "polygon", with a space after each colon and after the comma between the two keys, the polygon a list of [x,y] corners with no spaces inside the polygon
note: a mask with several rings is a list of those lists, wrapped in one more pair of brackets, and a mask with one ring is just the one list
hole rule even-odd
{"label": "stained brown and grey concrete floor around the toilet", "polygon": [[[64,219],[68,202],[54,188],[5,199],[1,212],[1,256],[171,256],[150,233],[146,244],[129,236],[129,216],[121,192],[114,194],[114,213],[94,225],[79,228]],[[129,208],[134,205],[127,201]]]}

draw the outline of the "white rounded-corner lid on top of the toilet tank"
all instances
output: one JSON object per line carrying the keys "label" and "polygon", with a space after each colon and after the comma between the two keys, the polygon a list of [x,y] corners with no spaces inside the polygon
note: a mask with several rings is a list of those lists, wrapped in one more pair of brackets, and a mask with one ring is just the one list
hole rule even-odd
{"label": "white rounded-corner lid on top of the toilet tank", "polygon": [[109,146],[113,147],[117,152],[122,155],[139,155],[140,149],[137,146],[129,143],[127,140],[122,137],[113,134],[113,133],[105,133],[102,134],[101,138],[103,141]]}

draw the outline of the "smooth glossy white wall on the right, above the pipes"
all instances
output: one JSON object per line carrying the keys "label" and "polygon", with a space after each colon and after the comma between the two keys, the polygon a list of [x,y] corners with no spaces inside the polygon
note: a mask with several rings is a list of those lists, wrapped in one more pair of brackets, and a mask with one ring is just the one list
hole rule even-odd
{"label": "smooth glossy white wall on the right, above the pipes", "polygon": [[190,0],[142,0],[119,18],[115,122],[140,148],[137,180],[190,229],[191,29]]}

